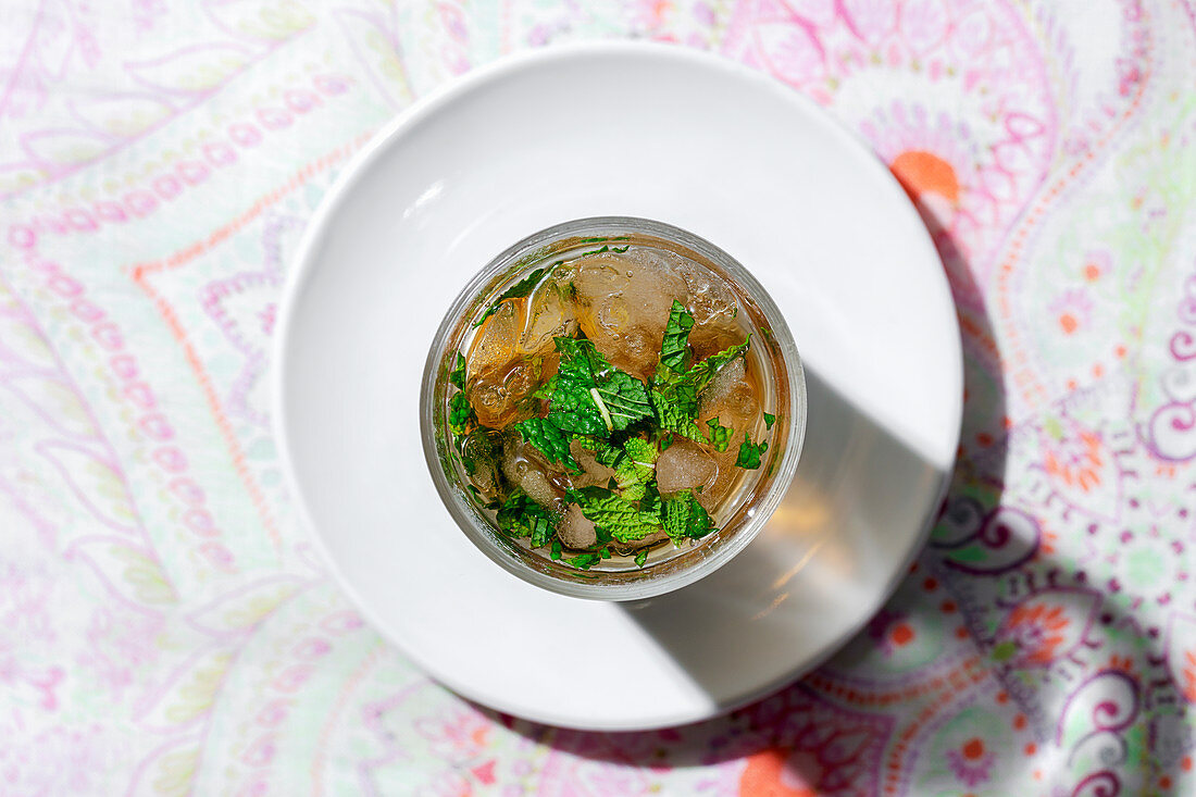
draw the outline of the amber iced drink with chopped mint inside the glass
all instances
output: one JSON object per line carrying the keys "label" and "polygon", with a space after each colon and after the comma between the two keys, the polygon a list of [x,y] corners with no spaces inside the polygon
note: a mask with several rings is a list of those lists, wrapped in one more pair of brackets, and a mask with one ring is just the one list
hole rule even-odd
{"label": "amber iced drink with chopped mint inside the glass", "polygon": [[652,236],[575,238],[480,293],[440,367],[441,464],[508,544],[635,571],[751,515],[786,444],[785,365],[709,261]]}

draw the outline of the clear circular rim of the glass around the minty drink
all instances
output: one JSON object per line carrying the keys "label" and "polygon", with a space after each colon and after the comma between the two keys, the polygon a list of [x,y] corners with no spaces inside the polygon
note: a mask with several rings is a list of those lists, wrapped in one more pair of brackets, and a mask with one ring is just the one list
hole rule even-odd
{"label": "clear circular rim of the glass around the minty drink", "polygon": [[[543,257],[535,256],[553,243],[598,235],[608,238],[640,235],[664,243],[679,244],[713,263],[716,267],[715,273],[722,272],[721,276],[733,284],[737,293],[743,294],[740,298],[750,299],[768,323],[774,357],[779,353],[785,366],[789,397],[786,413],[787,434],[783,440],[785,451],[776,468],[771,474],[762,475],[756,482],[769,480],[767,491],[761,495],[751,495],[739,509],[743,511],[750,507],[746,521],[733,533],[720,539],[703,540],[690,552],[685,552],[683,556],[692,556],[690,564],[669,572],[655,573],[651,565],[630,574],[624,574],[624,571],[574,571],[566,578],[525,561],[533,555],[531,553],[521,555],[513,553],[513,543],[506,541],[494,524],[481,516],[474,503],[465,497],[464,486],[456,485],[454,488],[445,470],[443,446],[438,444],[437,388],[441,382],[445,355],[454,348],[450,346],[454,342],[454,333],[460,328],[465,311],[471,304],[476,304],[487,286],[490,288],[487,296],[490,296],[493,290],[512,274],[542,262]],[[529,258],[533,260],[529,262]],[[459,345],[459,340],[456,342]],[[788,324],[764,287],[739,261],[688,230],[651,219],[604,215],[574,219],[535,232],[501,251],[466,282],[445,312],[428,351],[420,391],[420,434],[425,460],[443,504],[460,530],[487,558],[524,582],[561,595],[599,601],[635,601],[671,592],[709,576],[755,540],[780,505],[797,473],[805,438],[806,410],[805,375]],[[657,566],[663,567],[675,559],[659,562]],[[620,578],[616,579],[615,576]]]}

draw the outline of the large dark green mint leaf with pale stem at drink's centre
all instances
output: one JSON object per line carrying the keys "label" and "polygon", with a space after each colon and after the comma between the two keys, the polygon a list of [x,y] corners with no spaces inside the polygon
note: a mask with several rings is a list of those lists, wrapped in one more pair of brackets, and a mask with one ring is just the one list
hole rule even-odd
{"label": "large dark green mint leaf with pale stem at drink's centre", "polygon": [[561,353],[548,420],[574,434],[609,437],[652,416],[643,383],[608,363],[593,342],[557,337]]}

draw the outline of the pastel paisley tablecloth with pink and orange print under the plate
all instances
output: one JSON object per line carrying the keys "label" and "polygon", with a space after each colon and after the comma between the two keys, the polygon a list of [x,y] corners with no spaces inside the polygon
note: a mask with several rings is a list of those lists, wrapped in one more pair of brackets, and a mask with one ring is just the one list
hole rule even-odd
{"label": "pastel paisley tablecloth with pink and orange print under the plate", "polygon": [[[867,629],[728,717],[616,735],[465,702],[361,621],[266,376],[371,133],[611,37],[858,130],[968,360],[944,515]],[[6,0],[0,793],[1196,792],[1194,74],[1183,0]]]}

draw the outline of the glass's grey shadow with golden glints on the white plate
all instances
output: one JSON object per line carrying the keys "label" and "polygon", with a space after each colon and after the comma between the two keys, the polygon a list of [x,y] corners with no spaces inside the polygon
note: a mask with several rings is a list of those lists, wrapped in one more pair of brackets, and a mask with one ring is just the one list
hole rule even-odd
{"label": "glass's grey shadow with golden glints on the white plate", "polygon": [[[622,607],[720,708],[775,690],[801,651],[825,656],[855,633],[938,509],[942,470],[812,367],[806,389],[801,464],[759,537],[701,582]],[[743,683],[764,686],[744,694]]]}

